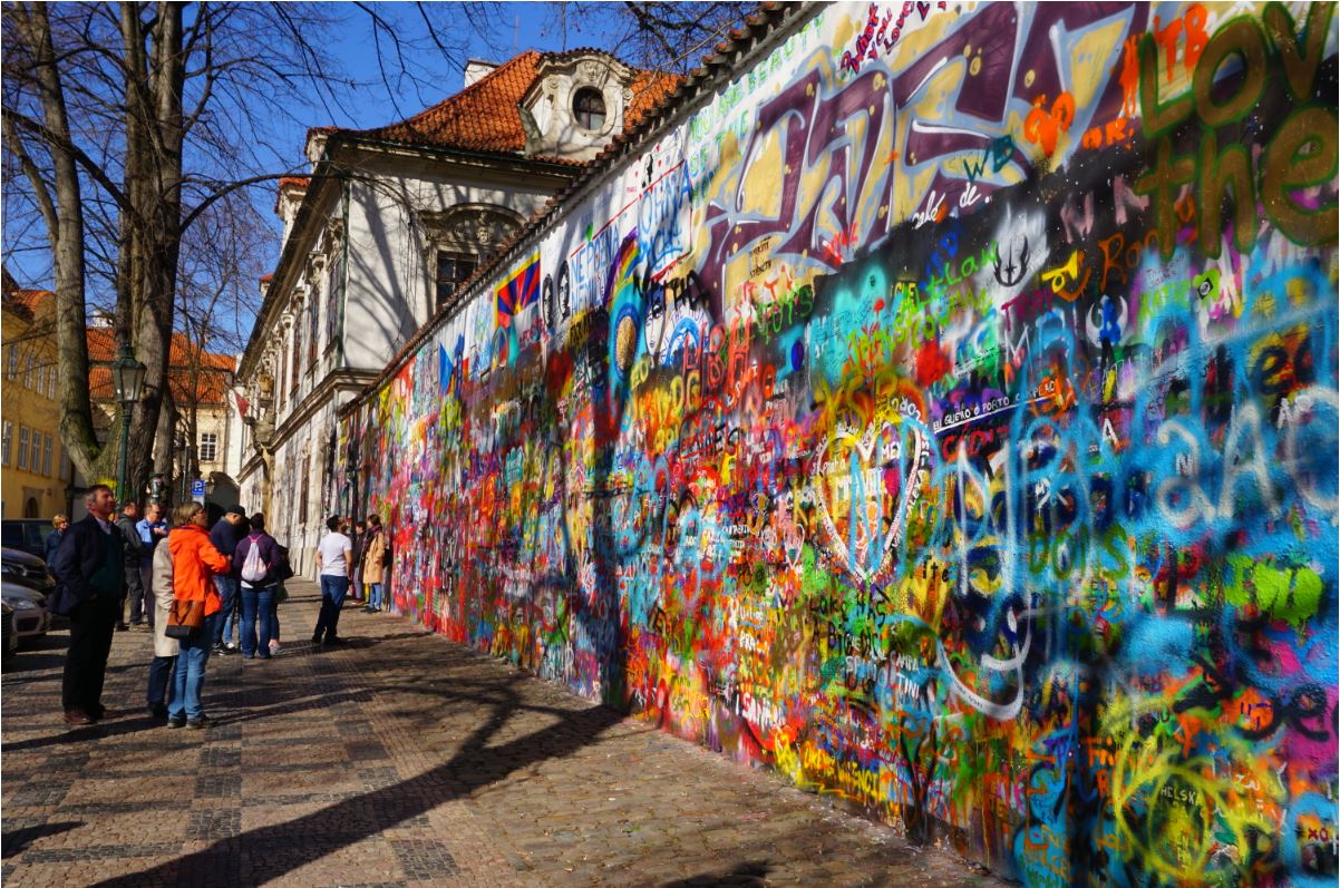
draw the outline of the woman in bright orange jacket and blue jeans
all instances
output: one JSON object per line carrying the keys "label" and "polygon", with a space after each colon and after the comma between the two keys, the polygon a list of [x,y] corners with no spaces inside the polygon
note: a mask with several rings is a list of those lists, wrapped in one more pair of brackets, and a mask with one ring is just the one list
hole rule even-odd
{"label": "woman in bright orange jacket and blue jeans", "polygon": [[181,640],[172,696],[168,700],[168,727],[198,729],[209,723],[200,695],[205,688],[205,664],[214,642],[214,620],[222,608],[213,576],[230,571],[232,561],[209,541],[205,506],[198,502],[181,504],[173,513],[173,524],[176,526],[168,534],[173,597],[178,601],[204,601],[205,625],[189,639]]}

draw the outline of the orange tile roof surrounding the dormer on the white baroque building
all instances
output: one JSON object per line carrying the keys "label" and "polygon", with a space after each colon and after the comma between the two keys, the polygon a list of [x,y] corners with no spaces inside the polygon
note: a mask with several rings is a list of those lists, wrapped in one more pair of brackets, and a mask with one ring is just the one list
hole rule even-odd
{"label": "orange tile roof surrounding the dormer on the white baroque building", "polygon": [[[598,52],[572,50],[564,55]],[[414,117],[370,130],[330,130],[387,142],[422,145],[427,147],[454,147],[493,154],[516,154],[525,149],[525,130],[521,127],[520,103],[535,83],[544,54],[535,50],[523,52],[493,68],[456,95],[438,102]],[[675,87],[681,78],[657,71],[638,71],[632,82],[632,104],[624,115],[628,130]],[[544,158],[556,159],[556,158]],[[580,166],[580,162],[570,163]]]}

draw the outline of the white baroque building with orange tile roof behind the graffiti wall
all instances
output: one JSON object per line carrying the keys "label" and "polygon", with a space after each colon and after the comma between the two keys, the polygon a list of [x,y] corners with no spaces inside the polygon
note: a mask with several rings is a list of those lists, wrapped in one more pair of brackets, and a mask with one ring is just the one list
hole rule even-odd
{"label": "white baroque building with orange tile roof behind the graffiti wall", "polygon": [[678,84],[596,50],[470,62],[464,88],[387,126],[308,131],[279,182],[276,269],[239,367],[241,502],[310,572],[336,413],[586,162]]}

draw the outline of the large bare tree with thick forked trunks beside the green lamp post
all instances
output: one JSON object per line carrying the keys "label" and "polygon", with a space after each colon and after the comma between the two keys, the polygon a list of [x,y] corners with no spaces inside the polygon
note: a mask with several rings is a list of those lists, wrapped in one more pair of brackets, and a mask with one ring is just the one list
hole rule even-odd
{"label": "large bare tree with thick forked trunks beside the green lamp post", "polygon": [[118,346],[146,366],[121,417],[135,490],[168,398],[182,237],[217,201],[289,171],[273,166],[265,121],[291,90],[330,84],[316,47],[331,19],[161,1],[15,4],[4,20],[7,166],[51,249],[62,439],[86,477],[110,474],[117,446],[94,429],[84,334],[90,303],[110,303]]}

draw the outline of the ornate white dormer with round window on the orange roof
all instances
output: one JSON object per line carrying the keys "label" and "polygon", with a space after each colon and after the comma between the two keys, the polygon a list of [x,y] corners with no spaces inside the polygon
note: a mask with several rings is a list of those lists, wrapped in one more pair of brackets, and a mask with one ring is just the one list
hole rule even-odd
{"label": "ornate white dormer with round window on the orange roof", "polygon": [[545,55],[521,98],[525,153],[590,161],[623,133],[636,75],[598,50]]}

